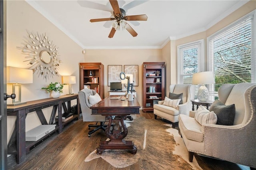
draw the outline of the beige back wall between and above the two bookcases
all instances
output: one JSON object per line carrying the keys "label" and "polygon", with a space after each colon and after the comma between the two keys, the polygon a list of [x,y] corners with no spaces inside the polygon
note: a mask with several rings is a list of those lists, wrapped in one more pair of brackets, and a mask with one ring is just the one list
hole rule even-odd
{"label": "beige back wall between and above the two bookcases", "polygon": [[[84,62],[100,62],[104,65],[104,95],[108,96],[108,65],[138,65],[139,85],[135,86],[137,99],[142,105],[142,63],[164,61],[161,49],[85,49]],[[170,56],[170,55],[169,55]]]}

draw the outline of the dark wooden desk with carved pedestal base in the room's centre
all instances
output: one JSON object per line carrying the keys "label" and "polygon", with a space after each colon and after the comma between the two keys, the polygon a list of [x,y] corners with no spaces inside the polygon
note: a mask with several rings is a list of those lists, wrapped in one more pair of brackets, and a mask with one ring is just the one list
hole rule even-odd
{"label": "dark wooden desk with carved pedestal base in the room's centre", "polygon": [[[122,101],[121,99],[125,99]],[[102,154],[105,149],[128,149],[132,154],[137,153],[137,148],[132,141],[125,141],[124,138],[128,134],[128,129],[124,124],[127,115],[140,114],[140,104],[136,97],[133,101],[128,101],[125,96],[121,99],[110,99],[106,97],[99,103],[91,107],[92,115],[106,116],[108,126],[106,128],[106,136],[109,141],[102,141],[97,149],[97,154]],[[112,119],[112,116],[115,116]],[[113,128],[111,127],[113,125]]]}

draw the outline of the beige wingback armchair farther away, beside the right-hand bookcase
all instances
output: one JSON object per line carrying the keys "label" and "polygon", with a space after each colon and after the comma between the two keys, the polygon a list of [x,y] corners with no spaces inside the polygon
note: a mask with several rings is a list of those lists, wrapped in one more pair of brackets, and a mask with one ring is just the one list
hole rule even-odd
{"label": "beige wingback armchair farther away, beside the right-hand bookcase", "polygon": [[[195,96],[195,85],[191,84],[172,84],[169,87],[170,93],[174,95],[182,96],[182,104],[179,104],[176,108],[163,105],[164,101],[158,101],[158,104],[155,104],[154,107],[154,116],[157,119],[157,116],[167,119],[172,122],[172,127],[175,127],[175,123],[178,122],[178,117],[180,114],[188,115],[189,111],[192,110],[191,99],[194,99]],[[174,99],[170,97],[170,99]]]}

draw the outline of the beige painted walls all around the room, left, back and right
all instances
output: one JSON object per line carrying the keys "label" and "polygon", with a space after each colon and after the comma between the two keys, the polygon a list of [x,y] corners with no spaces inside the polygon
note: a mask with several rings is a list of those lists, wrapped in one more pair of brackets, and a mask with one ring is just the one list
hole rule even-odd
{"label": "beige painted walls all around the room, left, back and right", "polygon": [[[79,67],[80,62],[101,62],[104,64],[104,84],[105,96],[108,95],[108,65],[138,65],[139,66],[139,86],[134,87],[137,91],[137,97],[142,104],[142,68],[144,61],[165,61],[166,62],[166,93],[169,92],[169,85],[177,83],[177,45],[204,39],[206,59],[206,38],[214,32],[228,26],[228,24],[248,14],[256,9],[256,1],[250,1],[216,25],[205,32],[194,34],[179,40],[171,40],[166,43],[162,49],[85,49],[82,54],[82,48],[39,14],[25,1],[7,1],[7,66],[28,68],[24,62],[24,55],[16,49],[22,45],[26,30],[38,34],[46,33],[53,43],[59,47],[59,53],[62,63],[59,67],[60,75],[76,76],[76,84],[72,85],[72,91],[77,93],[79,90]],[[206,60],[205,60],[206,63]],[[124,66],[123,66],[124,67]],[[206,68],[205,68],[206,69]],[[61,76],[55,76],[53,79],[42,79],[38,75],[33,76],[34,83],[22,85],[22,101],[31,101],[49,97],[48,93],[41,90],[50,82],[62,82]],[[11,85],[7,86],[7,93],[12,93]],[[68,93],[68,87],[64,87],[64,94]],[[8,101],[9,102],[9,101]],[[49,120],[51,109],[43,110],[46,119]],[[14,128],[15,117],[8,117],[8,140]],[[30,113],[26,119],[26,131],[40,125],[35,113]]]}

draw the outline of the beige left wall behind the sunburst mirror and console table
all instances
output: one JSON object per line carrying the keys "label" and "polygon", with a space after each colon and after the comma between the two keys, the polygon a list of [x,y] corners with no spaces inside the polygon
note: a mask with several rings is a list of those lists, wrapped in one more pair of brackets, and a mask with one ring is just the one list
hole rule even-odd
{"label": "beige left wall behind the sunburst mirror and console table", "polygon": [[[78,92],[79,89],[79,62],[84,61],[84,55],[82,54],[82,47],[72,41],[56,26],[54,26],[49,20],[39,14],[34,8],[32,8],[25,1],[12,1],[8,0],[7,3],[7,66],[20,67],[28,69],[30,65],[28,62],[24,62],[25,56],[16,47],[22,46],[24,43],[24,37],[27,36],[26,30],[33,32],[34,34],[44,34],[49,37],[53,43],[59,47],[59,54],[62,63],[58,69],[60,76],[54,76],[50,79],[42,79],[37,74],[33,75],[32,84],[22,84],[22,101],[32,101],[35,99],[43,99],[50,97],[49,93],[41,90],[41,87],[46,87],[50,82],[62,82],[61,75],[74,75],[76,76],[76,83],[72,85],[72,91]],[[7,85],[7,93],[12,93],[12,85]],[[64,87],[64,94],[68,93],[68,85]],[[8,99],[8,103],[11,99]],[[51,108],[43,110],[46,116],[46,120],[49,120],[51,114]],[[14,129],[16,117],[8,116],[8,140],[11,132]],[[40,121],[36,113],[28,114],[26,118],[26,131],[40,125]]]}

